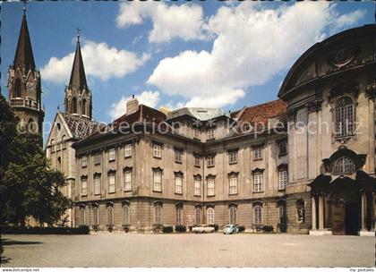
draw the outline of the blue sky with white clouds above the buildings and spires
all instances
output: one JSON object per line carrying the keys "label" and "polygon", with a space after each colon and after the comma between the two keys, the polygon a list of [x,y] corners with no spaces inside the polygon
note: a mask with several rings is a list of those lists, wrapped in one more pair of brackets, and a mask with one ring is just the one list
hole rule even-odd
{"label": "blue sky with white clouds above the buildings and spires", "polygon": [[[22,4],[1,6],[1,87],[7,97],[6,74],[13,64]],[[93,115],[108,123],[125,113],[132,94],[157,108],[235,110],[276,99],[286,72],[306,49],[374,21],[371,1],[60,1],[31,2],[27,9],[47,122],[57,106],[64,108],[77,27]]]}

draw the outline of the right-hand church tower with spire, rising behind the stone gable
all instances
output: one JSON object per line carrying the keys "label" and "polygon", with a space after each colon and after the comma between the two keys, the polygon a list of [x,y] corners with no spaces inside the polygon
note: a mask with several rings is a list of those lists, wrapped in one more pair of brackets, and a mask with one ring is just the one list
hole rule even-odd
{"label": "right-hand church tower with spire, rising behind the stone gable", "polygon": [[77,34],[77,46],[73,60],[71,79],[69,80],[69,85],[65,87],[64,92],[65,113],[78,115],[91,120],[92,98],[82,61],[80,34]]}

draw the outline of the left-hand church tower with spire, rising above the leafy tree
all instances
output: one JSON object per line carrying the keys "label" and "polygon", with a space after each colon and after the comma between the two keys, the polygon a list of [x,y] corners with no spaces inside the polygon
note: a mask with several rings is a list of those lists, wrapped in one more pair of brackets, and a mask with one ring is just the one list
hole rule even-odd
{"label": "left-hand church tower with spire, rising above the leafy tree", "polygon": [[21,126],[42,135],[45,113],[41,107],[40,73],[35,67],[25,7],[13,65],[8,70],[8,91],[10,106]]}

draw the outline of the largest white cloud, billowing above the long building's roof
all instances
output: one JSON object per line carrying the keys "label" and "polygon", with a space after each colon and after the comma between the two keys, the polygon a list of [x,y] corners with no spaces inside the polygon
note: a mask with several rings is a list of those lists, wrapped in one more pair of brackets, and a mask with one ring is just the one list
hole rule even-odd
{"label": "largest white cloud, billowing above the long building's roof", "polygon": [[231,105],[244,97],[244,89],[286,71],[326,36],[329,26],[338,20],[344,21],[342,25],[351,21],[341,19],[328,2],[283,4],[275,10],[263,7],[247,1],[222,6],[204,26],[215,37],[211,52],[184,51],[167,57],[148,83],[182,96],[187,106]]}

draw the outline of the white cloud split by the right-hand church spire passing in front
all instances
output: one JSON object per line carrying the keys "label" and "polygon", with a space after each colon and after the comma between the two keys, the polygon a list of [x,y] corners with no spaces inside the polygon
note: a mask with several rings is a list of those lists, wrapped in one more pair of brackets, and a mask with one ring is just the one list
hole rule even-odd
{"label": "white cloud split by the right-hand church spire passing in front", "polygon": [[[107,81],[110,78],[121,78],[129,72],[136,71],[150,55],[136,55],[127,50],[108,47],[104,42],[86,41],[81,47],[83,64],[87,76]],[[74,52],[62,58],[51,57],[40,69],[44,81],[68,83],[72,71]]]}

